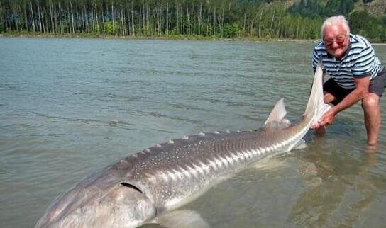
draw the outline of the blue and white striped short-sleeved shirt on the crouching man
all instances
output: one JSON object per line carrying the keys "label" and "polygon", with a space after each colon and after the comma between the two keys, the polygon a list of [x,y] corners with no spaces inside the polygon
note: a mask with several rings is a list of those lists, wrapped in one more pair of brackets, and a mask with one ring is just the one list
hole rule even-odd
{"label": "blue and white striped short-sleeved shirt on the crouching man", "polygon": [[326,51],[324,43],[319,42],[315,46],[312,56],[314,69],[319,62],[319,57],[322,59],[323,72],[328,72],[339,86],[346,89],[355,88],[354,79],[364,76],[370,76],[370,80],[374,79],[382,67],[370,42],[360,35],[350,34],[348,50],[341,59],[330,55]]}

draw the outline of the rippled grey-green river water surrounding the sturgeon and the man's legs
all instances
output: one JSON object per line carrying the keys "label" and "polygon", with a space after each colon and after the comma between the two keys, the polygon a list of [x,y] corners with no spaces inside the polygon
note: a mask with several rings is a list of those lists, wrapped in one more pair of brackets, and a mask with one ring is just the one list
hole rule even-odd
{"label": "rippled grey-green river water surrounding the sturgeon and the man's legs", "polygon": [[[258,129],[282,97],[297,120],[313,47],[0,38],[0,227],[34,227],[84,176],[159,142]],[[386,46],[374,47],[386,62]],[[211,227],[385,227],[385,135],[384,126],[370,153],[357,104],[324,137],[310,131],[306,149],[265,159],[183,208]]]}

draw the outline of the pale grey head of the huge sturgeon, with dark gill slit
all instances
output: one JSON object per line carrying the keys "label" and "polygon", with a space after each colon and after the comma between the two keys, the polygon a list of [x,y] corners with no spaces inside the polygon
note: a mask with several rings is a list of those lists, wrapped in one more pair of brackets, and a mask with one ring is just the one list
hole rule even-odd
{"label": "pale grey head of the huge sturgeon, with dark gill slit", "polygon": [[139,188],[107,170],[54,200],[35,228],[137,227],[155,215],[153,202]]}

